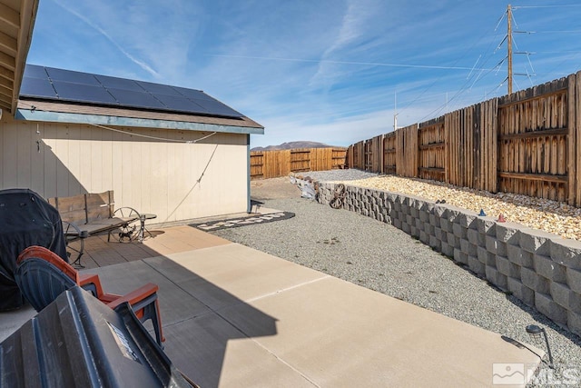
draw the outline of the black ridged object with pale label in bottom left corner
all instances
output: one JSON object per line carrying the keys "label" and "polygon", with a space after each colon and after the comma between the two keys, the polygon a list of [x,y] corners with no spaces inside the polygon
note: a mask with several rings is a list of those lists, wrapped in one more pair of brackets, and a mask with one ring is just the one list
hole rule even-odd
{"label": "black ridged object with pale label in bottom left corner", "polygon": [[0,387],[192,387],[124,303],[75,286],[0,343]]}

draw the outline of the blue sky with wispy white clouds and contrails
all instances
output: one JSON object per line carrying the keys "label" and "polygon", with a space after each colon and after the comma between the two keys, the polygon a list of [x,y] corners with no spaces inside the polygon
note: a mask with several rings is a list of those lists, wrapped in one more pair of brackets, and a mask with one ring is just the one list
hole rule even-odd
{"label": "blue sky with wispy white clouds and contrails", "polygon": [[[514,90],[581,70],[581,5],[514,1]],[[496,95],[507,2],[41,0],[28,63],[201,89],[251,146],[349,145]],[[500,65],[499,65],[500,64]]]}

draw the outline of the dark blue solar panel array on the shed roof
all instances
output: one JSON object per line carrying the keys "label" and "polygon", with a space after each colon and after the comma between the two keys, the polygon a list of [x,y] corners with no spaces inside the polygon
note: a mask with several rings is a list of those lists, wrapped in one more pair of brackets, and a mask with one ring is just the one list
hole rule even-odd
{"label": "dark blue solar panel array on the shed roof", "polygon": [[243,116],[200,90],[38,65],[26,65],[20,97],[173,113]]}

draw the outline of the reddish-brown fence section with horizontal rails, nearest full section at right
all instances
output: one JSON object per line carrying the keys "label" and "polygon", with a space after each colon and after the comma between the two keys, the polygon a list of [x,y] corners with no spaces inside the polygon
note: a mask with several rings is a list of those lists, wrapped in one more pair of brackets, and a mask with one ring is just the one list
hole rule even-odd
{"label": "reddish-brown fence section with horizontal rails, nearest full section at right", "polygon": [[567,82],[562,78],[499,99],[499,190],[569,198]]}

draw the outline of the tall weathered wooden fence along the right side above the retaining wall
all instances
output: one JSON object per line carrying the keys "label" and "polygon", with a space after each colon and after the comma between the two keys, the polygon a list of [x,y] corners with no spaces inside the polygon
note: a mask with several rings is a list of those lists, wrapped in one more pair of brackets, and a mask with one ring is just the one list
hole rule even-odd
{"label": "tall weathered wooden fence along the right side above the retaining wall", "polygon": [[581,206],[581,72],[350,145],[349,167]]}

